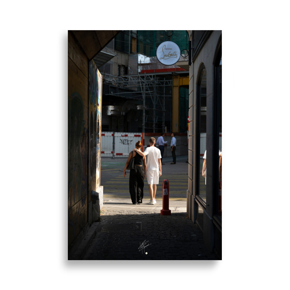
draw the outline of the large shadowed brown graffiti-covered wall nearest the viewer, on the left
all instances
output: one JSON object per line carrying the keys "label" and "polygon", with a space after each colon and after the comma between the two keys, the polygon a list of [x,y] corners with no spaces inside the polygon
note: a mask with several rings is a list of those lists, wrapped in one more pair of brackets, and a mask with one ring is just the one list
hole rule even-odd
{"label": "large shadowed brown graffiti-covered wall nearest the viewer, on the left", "polygon": [[68,33],[68,245],[88,222],[88,58]]}

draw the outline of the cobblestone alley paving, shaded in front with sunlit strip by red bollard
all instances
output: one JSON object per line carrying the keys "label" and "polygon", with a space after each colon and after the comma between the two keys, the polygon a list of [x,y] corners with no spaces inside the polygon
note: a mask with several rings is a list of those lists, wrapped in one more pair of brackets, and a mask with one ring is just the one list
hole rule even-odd
{"label": "cobblestone alley paving, shaded in front with sunlit strip by red bollard", "polygon": [[83,260],[218,260],[206,249],[200,229],[174,206],[171,215],[147,204],[110,208],[104,205],[102,229]]}

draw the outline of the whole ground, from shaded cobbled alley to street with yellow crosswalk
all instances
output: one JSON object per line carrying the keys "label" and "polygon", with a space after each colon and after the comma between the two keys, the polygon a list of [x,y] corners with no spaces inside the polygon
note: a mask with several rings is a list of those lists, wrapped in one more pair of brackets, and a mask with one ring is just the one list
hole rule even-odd
{"label": "whole ground, from shaded cobbled alley to street with yellow crosswalk", "polygon": [[[181,174],[188,172],[186,158],[179,156],[176,164],[162,166],[155,205],[148,204],[147,184],[143,203],[133,205],[128,180],[124,181],[123,176],[117,179],[126,160],[103,159],[104,204],[100,227],[82,260],[218,260],[214,253],[207,250],[199,227],[186,216],[186,189],[182,185],[184,183],[186,187],[187,180],[183,183],[179,180]],[[164,158],[164,163],[171,161],[171,157]],[[116,176],[113,176],[113,170],[117,172]],[[164,178],[170,182],[171,215],[160,214]],[[126,182],[125,193],[122,193],[121,182]],[[181,198],[183,195],[185,198]]]}

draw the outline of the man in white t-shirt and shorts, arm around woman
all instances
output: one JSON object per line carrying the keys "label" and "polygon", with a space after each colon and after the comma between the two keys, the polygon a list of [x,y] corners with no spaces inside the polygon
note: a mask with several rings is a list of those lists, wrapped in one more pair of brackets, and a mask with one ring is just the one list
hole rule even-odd
{"label": "man in white t-shirt and shorts, arm around woman", "polygon": [[[149,204],[155,204],[155,195],[157,184],[159,184],[159,176],[161,176],[161,153],[155,145],[155,138],[151,137],[149,139],[150,147],[147,147],[144,152],[137,151],[139,155],[147,157],[147,168],[146,168],[146,177],[149,186],[149,193],[150,193],[150,202]],[[159,175],[160,171],[160,175]]]}

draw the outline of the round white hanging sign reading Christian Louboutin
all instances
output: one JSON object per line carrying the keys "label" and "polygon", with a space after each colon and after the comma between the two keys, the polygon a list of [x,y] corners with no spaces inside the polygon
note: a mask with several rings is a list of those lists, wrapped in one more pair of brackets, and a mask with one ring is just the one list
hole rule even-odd
{"label": "round white hanging sign reading Christian Louboutin", "polygon": [[180,59],[180,48],[173,41],[164,41],[157,47],[156,56],[162,64],[171,66]]}

